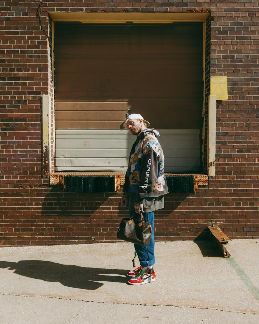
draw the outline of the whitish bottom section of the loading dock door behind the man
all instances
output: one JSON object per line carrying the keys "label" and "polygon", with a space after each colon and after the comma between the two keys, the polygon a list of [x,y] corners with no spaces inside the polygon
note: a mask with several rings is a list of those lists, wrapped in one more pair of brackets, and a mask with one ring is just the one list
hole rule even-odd
{"label": "whitish bottom section of the loading dock door behind the man", "polygon": [[[194,172],[200,166],[198,129],[160,129],[166,172]],[[57,129],[56,171],[126,172],[136,140],[128,129]]]}

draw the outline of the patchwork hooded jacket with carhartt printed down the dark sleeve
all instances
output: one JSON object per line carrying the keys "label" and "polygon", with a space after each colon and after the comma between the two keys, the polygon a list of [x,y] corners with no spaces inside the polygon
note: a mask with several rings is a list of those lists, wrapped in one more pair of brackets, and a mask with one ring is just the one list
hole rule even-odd
{"label": "patchwork hooded jacket with carhartt printed down the dark sleeve", "polygon": [[135,194],[136,202],[168,193],[164,174],[164,155],[157,137],[159,132],[147,128],[138,134],[129,155],[123,191]]}

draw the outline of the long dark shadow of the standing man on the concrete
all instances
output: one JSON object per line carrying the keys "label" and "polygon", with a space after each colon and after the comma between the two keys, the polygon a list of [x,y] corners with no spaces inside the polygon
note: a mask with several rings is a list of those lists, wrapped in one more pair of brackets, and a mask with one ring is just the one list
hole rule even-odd
{"label": "long dark shadow of the standing man on the concrete", "polygon": [[44,260],[22,260],[18,262],[0,261],[0,268],[15,270],[22,276],[29,278],[60,282],[67,287],[95,290],[103,283],[99,281],[110,281],[127,283],[125,274],[127,270],[102,269],[80,267],[72,264],[60,264]]}

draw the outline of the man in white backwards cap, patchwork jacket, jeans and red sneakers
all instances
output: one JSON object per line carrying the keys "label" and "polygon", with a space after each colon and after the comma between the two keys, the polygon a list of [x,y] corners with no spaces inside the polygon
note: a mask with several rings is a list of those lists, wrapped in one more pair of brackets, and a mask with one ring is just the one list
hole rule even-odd
{"label": "man in white backwards cap, patchwork jacket, jeans and red sneakers", "polygon": [[[159,132],[148,128],[150,123],[140,114],[131,114],[125,121],[131,134],[136,135],[129,155],[121,203],[129,208],[129,215],[135,214],[152,226],[152,236],[147,245],[134,244],[140,267],[127,273],[129,284],[140,285],[155,281],[154,255],[154,211],[164,208],[164,194],[168,193],[164,174],[163,150],[157,140]],[[138,214],[138,215],[137,215]]]}

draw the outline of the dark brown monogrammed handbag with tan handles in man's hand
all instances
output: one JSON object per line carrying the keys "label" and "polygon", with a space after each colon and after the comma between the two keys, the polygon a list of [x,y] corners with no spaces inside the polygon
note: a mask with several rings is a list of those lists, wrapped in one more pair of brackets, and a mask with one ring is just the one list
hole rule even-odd
{"label": "dark brown monogrammed handbag with tan handles in man's hand", "polygon": [[130,218],[123,218],[117,233],[117,238],[132,242],[135,244],[146,245],[150,242],[152,235],[152,226],[144,221],[141,213],[141,219],[135,219],[135,214]]}

